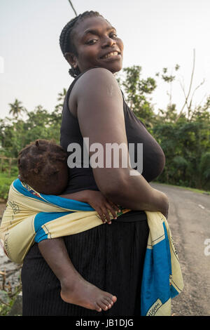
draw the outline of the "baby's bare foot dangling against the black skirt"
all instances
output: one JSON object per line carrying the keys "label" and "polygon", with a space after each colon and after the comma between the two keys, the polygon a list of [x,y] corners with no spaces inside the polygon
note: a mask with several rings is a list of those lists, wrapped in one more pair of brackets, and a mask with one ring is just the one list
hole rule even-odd
{"label": "baby's bare foot dangling against the black skirt", "polygon": [[90,310],[108,310],[116,303],[117,297],[111,293],[102,291],[93,284],[85,281],[83,277],[78,277],[71,284],[62,284],[62,300],[66,303],[73,303]]}

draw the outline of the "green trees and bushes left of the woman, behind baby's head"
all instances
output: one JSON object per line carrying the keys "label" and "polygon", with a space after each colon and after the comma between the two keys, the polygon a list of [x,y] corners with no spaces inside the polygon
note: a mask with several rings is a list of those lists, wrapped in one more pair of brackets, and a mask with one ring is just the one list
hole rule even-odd
{"label": "green trees and bushes left of the woman, behind baby's head", "polygon": [[[59,129],[62,119],[62,104],[66,90],[58,95],[58,104],[52,112],[38,105],[27,112],[22,103],[15,100],[10,104],[13,118],[0,119],[0,199],[8,198],[10,184],[18,177],[18,152],[37,138],[55,140],[59,143]],[[24,119],[22,118],[24,114]],[[5,158],[6,157],[6,158]]]}

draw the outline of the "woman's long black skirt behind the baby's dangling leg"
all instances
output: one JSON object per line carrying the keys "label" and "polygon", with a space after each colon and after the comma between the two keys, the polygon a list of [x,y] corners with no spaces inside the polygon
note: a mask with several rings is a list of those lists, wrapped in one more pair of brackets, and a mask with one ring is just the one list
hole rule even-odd
{"label": "woman's long black skirt behind the baby's dangling leg", "polygon": [[22,315],[140,316],[141,278],[149,230],[146,217],[138,213],[125,213],[112,220],[111,225],[99,225],[64,237],[80,275],[117,296],[111,309],[97,312],[62,301],[59,280],[41,256],[38,244],[34,244],[22,266]]}

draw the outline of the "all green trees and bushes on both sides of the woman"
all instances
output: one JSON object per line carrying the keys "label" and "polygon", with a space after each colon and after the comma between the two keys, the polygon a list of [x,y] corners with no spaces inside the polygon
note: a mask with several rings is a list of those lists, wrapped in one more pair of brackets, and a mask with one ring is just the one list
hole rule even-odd
{"label": "all green trees and bushes on both sides of the woman", "polygon": [[[193,67],[194,70],[194,67]],[[172,70],[170,70],[172,71]],[[125,67],[117,79],[125,94],[128,105],[165,152],[165,169],[157,178],[160,183],[210,190],[210,95],[203,105],[193,105],[191,91],[182,86],[185,102],[181,110],[172,103],[172,92],[165,109],[154,111],[152,94],[157,88],[158,79],[165,81],[172,91],[172,84],[179,72],[179,65],[172,74],[168,69],[155,74],[155,78],[142,78],[140,66]],[[201,84],[200,84],[201,85]],[[0,119],[0,198],[7,198],[10,182],[18,175],[15,159],[18,152],[37,138],[54,139],[59,143],[59,129],[62,119],[62,104],[66,90],[59,93],[58,104],[51,112],[38,105],[28,112],[20,100],[10,103],[12,118]],[[191,95],[191,96],[190,96]],[[8,157],[8,159],[2,159]],[[10,161],[10,159],[12,159]]]}

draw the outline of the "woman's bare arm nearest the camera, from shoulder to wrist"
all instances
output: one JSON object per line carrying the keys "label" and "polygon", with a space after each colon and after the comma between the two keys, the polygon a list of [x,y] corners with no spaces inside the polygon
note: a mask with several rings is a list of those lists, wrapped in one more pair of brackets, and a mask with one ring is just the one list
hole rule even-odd
{"label": "woman's bare arm nearest the camera, from shoulder to wrist", "polygon": [[[94,143],[99,143],[104,152],[101,154],[101,167],[92,168],[99,190],[113,203],[132,210],[161,211],[168,210],[167,196],[151,185],[138,173],[131,176],[129,152],[123,112],[123,96],[109,70],[95,68],[88,70],[73,86],[73,98],[76,101],[78,122],[83,138],[89,138],[90,158],[94,152]],[[109,162],[106,152],[108,143],[123,143],[126,150],[119,154],[118,168]],[[127,167],[122,166],[122,159],[127,159]],[[103,167],[102,167],[103,164]],[[134,171],[134,170],[132,170]]]}

